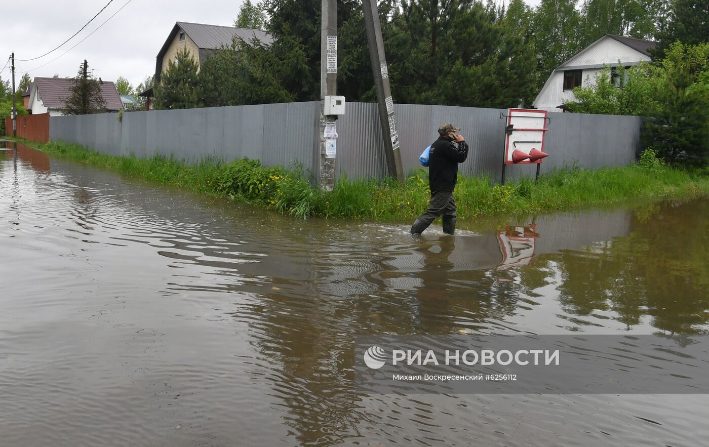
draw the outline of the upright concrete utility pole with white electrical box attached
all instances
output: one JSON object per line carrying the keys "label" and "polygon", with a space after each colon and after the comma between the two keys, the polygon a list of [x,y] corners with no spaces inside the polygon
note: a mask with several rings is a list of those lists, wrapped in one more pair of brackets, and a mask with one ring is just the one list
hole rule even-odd
{"label": "upright concrete utility pole with white electrical box attached", "polygon": [[[326,191],[335,186],[337,140],[332,135],[334,120],[325,115],[325,96],[337,94],[337,0],[322,0],[320,23],[320,157],[318,185]],[[326,137],[326,128],[333,128]],[[335,134],[336,135],[336,132]]]}

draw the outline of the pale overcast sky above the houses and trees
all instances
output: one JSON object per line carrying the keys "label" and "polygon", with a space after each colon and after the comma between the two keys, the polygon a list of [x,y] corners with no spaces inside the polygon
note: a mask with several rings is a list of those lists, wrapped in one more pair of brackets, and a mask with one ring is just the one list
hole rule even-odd
{"label": "pale overcast sky above the houses and trees", "polygon": [[[532,6],[540,2],[525,1]],[[22,72],[29,72],[33,78],[54,74],[73,77],[86,59],[96,77],[116,81],[123,76],[137,86],[147,75],[155,73],[155,56],[175,22],[231,26],[242,0],[113,0],[77,37],[50,55],[31,61],[22,60],[43,55],[67,40],[108,0],[3,3],[5,20],[0,37],[0,70],[11,52],[15,52],[17,80]],[[113,13],[116,15],[101,26]],[[94,30],[96,32],[86,38]],[[83,38],[86,40],[79,43]],[[77,43],[77,47],[69,50]],[[69,52],[62,55],[67,50]],[[9,79],[9,66],[0,72],[0,77]]]}

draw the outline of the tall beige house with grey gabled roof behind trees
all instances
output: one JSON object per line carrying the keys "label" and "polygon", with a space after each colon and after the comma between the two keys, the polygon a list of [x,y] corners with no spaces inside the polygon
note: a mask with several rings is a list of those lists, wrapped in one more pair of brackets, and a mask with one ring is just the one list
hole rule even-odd
{"label": "tall beige house with grey gabled roof behind trees", "polygon": [[235,36],[246,42],[251,42],[253,39],[265,45],[273,42],[272,36],[264,30],[176,22],[155,58],[155,82],[160,82],[160,75],[167,70],[169,61],[174,61],[177,52],[183,48],[189,51],[197,66],[201,67],[206,57],[223,46],[231,45]]}

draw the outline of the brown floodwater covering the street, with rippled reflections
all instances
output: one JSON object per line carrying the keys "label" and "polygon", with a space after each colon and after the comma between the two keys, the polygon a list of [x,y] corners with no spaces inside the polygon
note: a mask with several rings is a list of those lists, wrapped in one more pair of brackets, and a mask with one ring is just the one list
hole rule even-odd
{"label": "brown floodwater covering the street, with rippled reflections", "polygon": [[707,395],[363,395],[352,373],[362,334],[705,334],[708,199],[415,239],[6,144],[1,445],[708,443]]}

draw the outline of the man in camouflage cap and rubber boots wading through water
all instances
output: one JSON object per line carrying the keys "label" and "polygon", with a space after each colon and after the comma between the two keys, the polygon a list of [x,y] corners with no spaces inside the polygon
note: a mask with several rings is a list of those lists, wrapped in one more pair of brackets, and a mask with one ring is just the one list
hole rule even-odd
{"label": "man in camouflage cap and rubber boots wading through water", "polygon": [[[428,186],[431,200],[428,210],[418,216],[411,226],[411,234],[421,234],[440,215],[443,215],[443,232],[454,234],[456,207],[453,190],[458,179],[458,164],[468,158],[468,143],[460,129],[451,123],[443,123],[438,128],[438,140],[431,145],[428,156]],[[458,147],[453,142],[458,143]]]}

